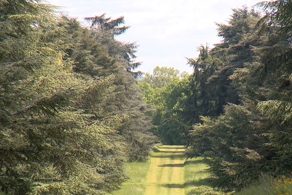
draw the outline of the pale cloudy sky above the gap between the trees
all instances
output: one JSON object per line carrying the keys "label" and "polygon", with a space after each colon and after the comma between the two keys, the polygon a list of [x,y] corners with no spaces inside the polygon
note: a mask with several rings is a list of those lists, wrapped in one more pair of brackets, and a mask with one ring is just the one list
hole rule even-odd
{"label": "pale cloudy sky above the gap between the trees", "polygon": [[220,42],[217,23],[227,24],[233,8],[251,7],[261,0],[47,0],[59,11],[84,22],[86,17],[125,17],[130,28],[116,39],[136,42],[137,69],[152,73],[155,66],[192,72],[186,58],[196,58],[197,48]]}

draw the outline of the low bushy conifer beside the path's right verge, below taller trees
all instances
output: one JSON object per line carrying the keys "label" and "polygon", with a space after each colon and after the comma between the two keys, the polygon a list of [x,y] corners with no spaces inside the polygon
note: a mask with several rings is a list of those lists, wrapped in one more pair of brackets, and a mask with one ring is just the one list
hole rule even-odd
{"label": "low bushy conifer beside the path's right verge, below taller trees", "polygon": [[229,189],[246,185],[260,174],[263,156],[255,150],[256,132],[251,122],[252,113],[242,106],[229,104],[224,115],[211,119],[201,117],[191,131],[192,147],[198,156],[210,156],[207,164],[213,176],[212,182]]}

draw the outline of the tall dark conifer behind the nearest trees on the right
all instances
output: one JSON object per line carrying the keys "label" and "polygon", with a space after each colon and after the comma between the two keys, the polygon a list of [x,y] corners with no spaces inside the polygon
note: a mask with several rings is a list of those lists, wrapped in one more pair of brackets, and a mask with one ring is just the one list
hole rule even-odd
{"label": "tall dark conifer behind the nearest trees on the right", "polygon": [[[183,124],[181,128],[185,134],[191,130],[191,125],[200,122],[200,116],[219,116],[228,102],[239,103],[236,89],[231,85],[229,77],[243,63],[252,60],[250,43],[242,42],[242,39],[244,35],[254,33],[252,29],[258,19],[255,12],[245,7],[234,10],[228,25],[218,24],[222,42],[211,50],[208,46],[201,45],[198,48],[199,57],[188,59],[194,72],[190,77],[186,98],[178,102],[180,112],[176,117]],[[188,145],[190,140],[187,137],[185,139]]]}

